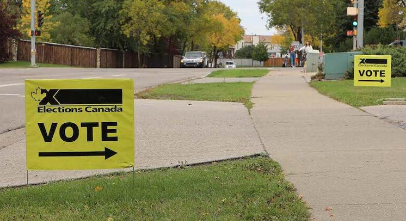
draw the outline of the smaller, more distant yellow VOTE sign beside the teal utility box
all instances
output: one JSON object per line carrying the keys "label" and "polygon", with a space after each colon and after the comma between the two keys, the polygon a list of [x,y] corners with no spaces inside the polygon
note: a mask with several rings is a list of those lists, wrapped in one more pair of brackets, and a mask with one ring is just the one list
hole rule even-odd
{"label": "smaller, more distant yellow VOTE sign beside the teal utility box", "polygon": [[390,87],[391,75],[392,56],[354,56],[354,86]]}

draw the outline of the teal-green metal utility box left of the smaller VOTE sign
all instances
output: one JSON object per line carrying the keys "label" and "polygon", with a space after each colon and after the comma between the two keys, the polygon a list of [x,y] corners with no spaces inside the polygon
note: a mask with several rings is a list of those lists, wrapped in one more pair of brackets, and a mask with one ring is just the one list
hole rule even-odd
{"label": "teal-green metal utility box left of the smaller VOTE sign", "polygon": [[361,51],[329,53],[324,55],[325,80],[344,78],[344,73],[354,67],[354,55],[362,54]]}

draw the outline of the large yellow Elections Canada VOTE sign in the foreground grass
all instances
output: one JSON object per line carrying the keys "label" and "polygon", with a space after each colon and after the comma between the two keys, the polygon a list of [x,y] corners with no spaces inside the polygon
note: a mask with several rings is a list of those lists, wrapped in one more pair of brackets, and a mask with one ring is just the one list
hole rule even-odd
{"label": "large yellow Elections Canada VOTE sign in the foreground grass", "polygon": [[28,170],[134,166],[132,79],[26,80]]}

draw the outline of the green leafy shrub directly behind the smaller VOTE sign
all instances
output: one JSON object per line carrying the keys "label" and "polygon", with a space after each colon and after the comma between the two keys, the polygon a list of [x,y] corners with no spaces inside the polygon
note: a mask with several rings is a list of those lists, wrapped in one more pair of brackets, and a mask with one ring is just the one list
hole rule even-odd
{"label": "green leafy shrub directly behind the smaller VOTE sign", "polygon": [[378,44],[366,46],[362,51],[367,55],[391,55],[392,77],[406,77],[406,47]]}

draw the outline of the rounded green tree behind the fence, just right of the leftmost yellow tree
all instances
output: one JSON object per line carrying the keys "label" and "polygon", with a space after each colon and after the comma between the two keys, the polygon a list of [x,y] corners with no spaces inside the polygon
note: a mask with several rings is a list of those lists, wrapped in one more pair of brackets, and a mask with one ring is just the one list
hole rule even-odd
{"label": "rounded green tree behind the fence, just right of the leftmost yellow tree", "polygon": [[62,12],[53,18],[60,25],[50,31],[53,42],[81,46],[94,46],[94,38],[90,36],[90,22],[79,15]]}

